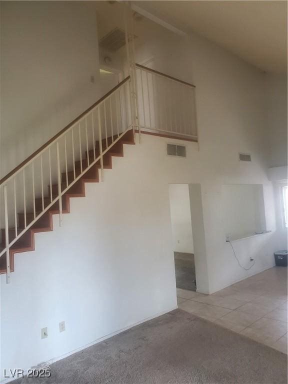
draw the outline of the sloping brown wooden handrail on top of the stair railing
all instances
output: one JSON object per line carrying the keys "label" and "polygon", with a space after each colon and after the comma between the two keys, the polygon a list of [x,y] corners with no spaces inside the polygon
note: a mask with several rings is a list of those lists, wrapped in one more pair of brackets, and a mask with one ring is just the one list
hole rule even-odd
{"label": "sloping brown wooden handrail on top of the stair railing", "polygon": [[69,129],[72,125],[74,125],[78,120],[80,120],[86,113],[88,113],[91,109],[93,109],[95,106],[100,104],[105,98],[110,96],[111,93],[113,93],[115,90],[117,90],[121,85],[123,85],[126,81],[130,79],[130,76],[127,76],[119,82],[116,86],[114,86],[111,90],[109,90],[107,93],[105,93],[101,98],[99,98],[94,104],[89,106],[84,112],[79,114],[73,121],[71,121],[68,125],[66,125],[63,129],[61,129],[58,133],[56,133],[53,137],[51,137],[48,141],[46,141],[42,146],[40,146],[35,152],[30,154],[25,160],[20,162],[19,165],[17,165],[14,169],[12,169],[9,173],[7,173],[4,177],[0,179],[0,185],[6,181],[9,177],[11,177],[14,173],[16,173],[19,169],[21,169],[28,161],[30,161],[33,157],[35,157],[39,152],[41,152],[46,146],[51,144],[56,138],[58,138],[62,133],[64,133],[67,129]]}

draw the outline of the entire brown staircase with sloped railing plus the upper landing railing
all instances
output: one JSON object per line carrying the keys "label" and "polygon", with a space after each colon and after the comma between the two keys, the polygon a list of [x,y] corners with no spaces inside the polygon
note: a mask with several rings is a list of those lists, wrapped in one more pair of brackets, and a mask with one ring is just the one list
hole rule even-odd
{"label": "entire brown staircase with sloped railing plus the upper landing railing", "polygon": [[84,197],[85,183],[99,175],[102,181],[112,156],[134,144],[135,128],[139,137],[150,130],[197,141],[195,86],[139,64],[130,73],[0,179],[0,273],[7,282],[14,254],[34,250],[34,233],[53,230],[53,214],[61,224],[70,197]]}

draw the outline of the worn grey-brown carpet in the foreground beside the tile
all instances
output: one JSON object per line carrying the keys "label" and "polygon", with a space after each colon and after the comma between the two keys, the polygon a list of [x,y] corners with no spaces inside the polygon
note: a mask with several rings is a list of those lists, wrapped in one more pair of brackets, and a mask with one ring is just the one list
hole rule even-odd
{"label": "worn grey-brown carpet in the foreground beside the tile", "polygon": [[14,383],[287,382],[287,356],[176,309],[51,364],[50,378]]}

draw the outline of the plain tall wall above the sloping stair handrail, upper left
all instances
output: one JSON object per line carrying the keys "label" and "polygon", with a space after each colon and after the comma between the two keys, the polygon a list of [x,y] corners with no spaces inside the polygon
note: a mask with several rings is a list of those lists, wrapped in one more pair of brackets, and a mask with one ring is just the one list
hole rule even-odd
{"label": "plain tall wall above the sloping stair handrail, upper left", "polygon": [[3,176],[95,102],[100,90],[96,13],[89,1],[0,6]]}

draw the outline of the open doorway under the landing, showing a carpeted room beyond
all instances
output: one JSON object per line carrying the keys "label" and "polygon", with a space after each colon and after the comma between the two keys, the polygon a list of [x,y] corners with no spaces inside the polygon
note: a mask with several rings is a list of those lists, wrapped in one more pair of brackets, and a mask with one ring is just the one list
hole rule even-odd
{"label": "open doorway under the landing, showing a carpeted room beyond", "polygon": [[176,287],[196,290],[194,246],[188,184],[169,184]]}

